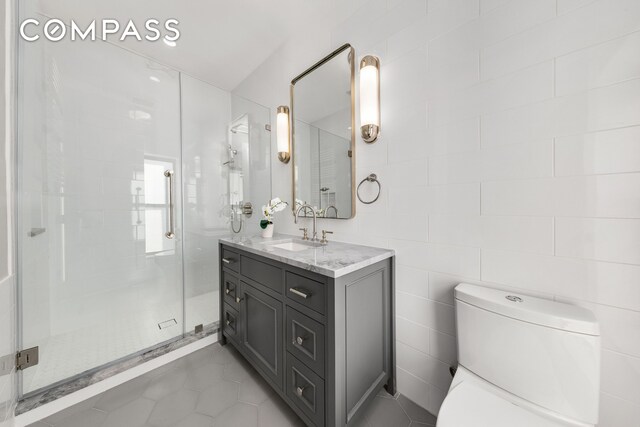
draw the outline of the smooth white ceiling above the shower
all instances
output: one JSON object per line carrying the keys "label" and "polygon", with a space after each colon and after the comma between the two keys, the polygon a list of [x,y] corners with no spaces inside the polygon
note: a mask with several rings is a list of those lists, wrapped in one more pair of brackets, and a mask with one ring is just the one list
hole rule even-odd
{"label": "smooth white ceiling above the shower", "polygon": [[[179,21],[175,47],[129,38],[113,42],[163,64],[232,90],[309,20],[329,11],[329,0],[28,0],[48,17],[86,25],[93,19]],[[24,12],[22,17],[32,15]],[[98,25],[99,27],[99,25]],[[84,28],[84,27],[83,27]],[[146,34],[146,33],[145,33]]]}

